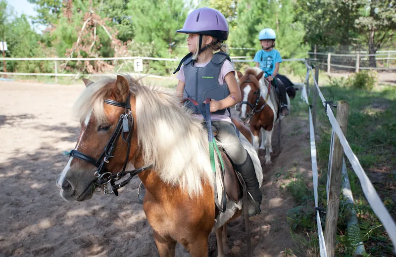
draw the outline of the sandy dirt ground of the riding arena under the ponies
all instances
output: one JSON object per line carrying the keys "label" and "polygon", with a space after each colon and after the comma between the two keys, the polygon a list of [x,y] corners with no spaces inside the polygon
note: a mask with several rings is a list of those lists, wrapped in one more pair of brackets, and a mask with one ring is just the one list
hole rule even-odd
{"label": "sandy dirt ground of the riding arena under the ponies", "polygon": [[[71,106],[84,89],[77,86],[0,82],[0,257],[129,256],[155,257],[157,250],[142,206],[140,180],[120,196],[96,194],[90,201],[65,202],[55,186],[67,158],[61,151],[75,146],[79,124]],[[280,189],[283,172],[298,166],[310,171],[307,120],[295,116],[282,123],[282,153],[276,133],[273,164],[264,166],[263,213],[251,218],[254,256],[278,257],[293,248],[286,213],[293,199]],[[298,132],[297,132],[298,130]],[[260,152],[264,163],[264,153]],[[243,219],[229,225],[234,257],[245,253]],[[209,256],[217,256],[215,235]],[[176,256],[189,256],[178,246]]]}

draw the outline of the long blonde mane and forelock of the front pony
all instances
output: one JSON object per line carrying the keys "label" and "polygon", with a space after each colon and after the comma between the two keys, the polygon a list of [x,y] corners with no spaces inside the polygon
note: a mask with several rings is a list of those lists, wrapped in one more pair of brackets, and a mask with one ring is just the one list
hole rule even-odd
{"label": "long blonde mane and forelock of the front pony", "polygon": [[[138,145],[145,164],[153,164],[164,182],[181,186],[190,196],[202,193],[202,183],[213,186],[207,132],[201,121],[192,118],[175,93],[124,77],[136,102]],[[106,85],[114,83],[115,79],[105,78],[83,91],[74,105],[81,121],[91,111],[96,119],[106,120],[103,103],[111,90]]]}

